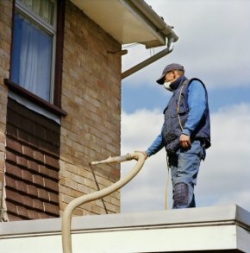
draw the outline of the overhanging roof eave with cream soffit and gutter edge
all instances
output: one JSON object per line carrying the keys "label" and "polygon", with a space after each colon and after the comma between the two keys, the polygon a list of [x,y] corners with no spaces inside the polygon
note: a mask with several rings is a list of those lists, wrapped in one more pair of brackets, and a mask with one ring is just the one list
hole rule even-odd
{"label": "overhanging roof eave with cream soffit and gutter edge", "polygon": [[121,44],[163,46],[178,36],[144,0],[71,0]]}

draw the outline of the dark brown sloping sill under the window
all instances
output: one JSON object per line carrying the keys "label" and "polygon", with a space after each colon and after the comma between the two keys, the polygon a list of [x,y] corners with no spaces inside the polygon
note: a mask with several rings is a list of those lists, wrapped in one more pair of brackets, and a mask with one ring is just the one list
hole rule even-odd
{"label": "dark brown sloping sill under the window", "polygon": [[62,110],[61,108],[49,103],[48,101],[36,96],[35,94],[29,92],[28,90],[23,89],[21,86],[11,82],[9,79],[4,79],[4,84],[12,91],[18,93],[25,97],[26,99],[30,100],[31,102],[43,107],[44,109],[50,111],[59,116],[66,116],[67,112]]}

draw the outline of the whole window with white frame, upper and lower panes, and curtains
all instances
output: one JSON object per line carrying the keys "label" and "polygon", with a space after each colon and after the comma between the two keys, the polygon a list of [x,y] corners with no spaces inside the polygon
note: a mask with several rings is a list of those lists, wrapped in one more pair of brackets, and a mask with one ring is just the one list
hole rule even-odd
{"label": "whole window with white frame, upper and lower panes, and curtains", "polygon": [[56,1],[16,0],[11,81],[53,103]]}

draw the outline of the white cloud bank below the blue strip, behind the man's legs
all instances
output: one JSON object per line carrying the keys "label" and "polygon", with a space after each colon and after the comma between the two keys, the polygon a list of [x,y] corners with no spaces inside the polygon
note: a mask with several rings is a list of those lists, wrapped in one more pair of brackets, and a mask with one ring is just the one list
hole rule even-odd
{"label": "white cloud bank below the blue strip, behind the man's legs", "polygon": [[[122,154],[145,150],[159,133],[161,111],[122,115]],[[221,108],[211,115],[212,147],[201,164],[197,206],[238,204],[250,210],[250,104]],[[122,174],[131,163],[122,164]],[[142,171],[122,189],[122,212],[164,209],[167,181],[165,151],[150,157]],[[168,189],[171,205],[171,187]]]}

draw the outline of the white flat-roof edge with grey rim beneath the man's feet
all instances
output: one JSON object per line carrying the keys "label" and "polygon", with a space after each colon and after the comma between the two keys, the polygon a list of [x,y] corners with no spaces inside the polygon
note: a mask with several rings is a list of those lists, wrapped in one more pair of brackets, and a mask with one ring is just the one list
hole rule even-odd
{"label": "white flat-roof edge with grey rim beneath the man's feet", "polygon": [[[237,205],[72,220],[73,253],[250,252],[250,213]],[[0,223],[1,253],[63,253],[61,219]]]}

